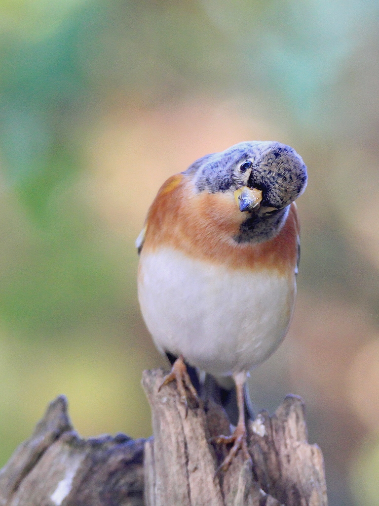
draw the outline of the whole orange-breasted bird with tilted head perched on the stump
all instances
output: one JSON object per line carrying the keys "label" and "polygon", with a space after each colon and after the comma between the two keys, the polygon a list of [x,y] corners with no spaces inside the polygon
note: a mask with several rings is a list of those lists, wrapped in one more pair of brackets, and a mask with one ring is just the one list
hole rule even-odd
{"label": "whole orange-breasted bird with tilted head perched on the stump", "polygon": [[250,458],[247,377],[278,348],[292,319],[300,259],[295,200],[307,179],[290,146],[240,142],[170,177],[136,240],[141,314],[172,363],[160,388],[176,381],[187,410],[187,398],[198,399],[193,371],[235,385],[234,432],[213,440],[232,444],[223,470],[240,450]]}

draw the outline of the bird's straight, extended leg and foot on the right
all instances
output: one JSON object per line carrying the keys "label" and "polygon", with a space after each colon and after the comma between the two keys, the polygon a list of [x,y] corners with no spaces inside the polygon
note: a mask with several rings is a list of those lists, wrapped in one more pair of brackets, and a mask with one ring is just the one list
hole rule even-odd
{"label": "bird's straight, extended leg and foot on the right", "polygon": [[239,411],[238,424],[234,429],[233,434],[231,434],[230,436],[216,436],[211,439],[212,442],[217,444],[226,445],[229,443],[233,443],[233,446],[229,450],[227,457],[224,459],[221,466],[218,468],[217,473],[221,469],[223,471],[227,471],[231,461],[233,460],[233,458],[235,457],[235,455],[238,453],[239,450],[242,450],[245,460],[248,459],[251,460],[251,456],[248,451],[247,430],[245,424],[244,385],[246,382],[246,376],[247,374],[245,371],[233,375],[235,388],[237,391],[237,404]]}

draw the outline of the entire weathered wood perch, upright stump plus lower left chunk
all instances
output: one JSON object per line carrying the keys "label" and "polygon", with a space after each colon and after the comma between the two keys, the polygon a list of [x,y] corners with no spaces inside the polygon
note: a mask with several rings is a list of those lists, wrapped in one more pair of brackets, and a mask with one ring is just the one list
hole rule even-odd
{"label": "entire weathered wood perch, upright stump plus lower left chunk", "polygon": [[158,393],[162,378],[162,370],[143,376],[148,440],[81,439],[58,397],[0,471],[0,506],[327,506],[321,451],[307,443],[298,397],[249,424],[253,466],[238,455],[215,476],[223,452],[208,440],[229,432],[224,411],[209,402],[185,416],[174,385]]}

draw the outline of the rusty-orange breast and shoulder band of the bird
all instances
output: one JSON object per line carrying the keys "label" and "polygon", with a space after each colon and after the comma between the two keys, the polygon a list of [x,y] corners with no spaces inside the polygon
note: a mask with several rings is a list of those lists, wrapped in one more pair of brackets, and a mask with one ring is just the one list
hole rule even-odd
{"label": "rusty-orange breast and shoulder band of the bird", "polygon": [[280,232],[268,241],[236,243],[233,237],[245,219],[231,192],[197,193],[187,176],[172,176],[149,209],[142,255],[168,246],[188,257],[231,269],[293,272],[299,234],[296,204],[291,204]]}

